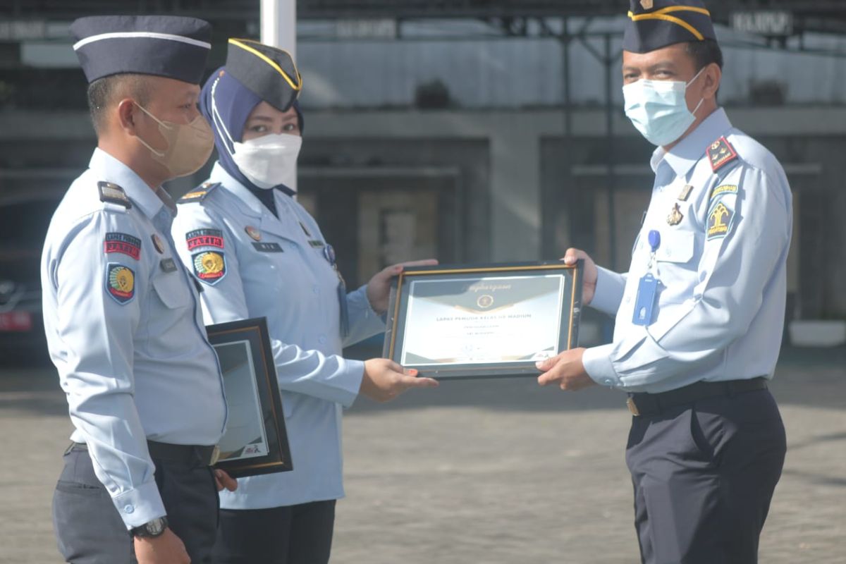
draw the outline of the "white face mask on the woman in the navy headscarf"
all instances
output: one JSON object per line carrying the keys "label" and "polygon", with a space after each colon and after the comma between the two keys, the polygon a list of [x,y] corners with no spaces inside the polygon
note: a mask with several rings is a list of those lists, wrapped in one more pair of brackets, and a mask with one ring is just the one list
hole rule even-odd
{"label": "white face mask on the woman in the navy headscarf", "polygon": [[277,184],[294,189],[302,145],[303,138],[299,135],[267,134],[243,143],[234,142],[232,160],[261,189],[271,189]]}

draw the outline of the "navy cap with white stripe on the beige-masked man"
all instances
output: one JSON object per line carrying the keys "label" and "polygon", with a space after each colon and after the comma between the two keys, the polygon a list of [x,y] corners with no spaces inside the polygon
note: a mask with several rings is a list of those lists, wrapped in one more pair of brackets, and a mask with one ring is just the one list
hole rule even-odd
{"label": "navy cap with white stripe on the beige-masked man", "polygon": [[131,73],[198,85],[211,49],[211,25],[183,16],[91,16],[70,31],[89,83]]}

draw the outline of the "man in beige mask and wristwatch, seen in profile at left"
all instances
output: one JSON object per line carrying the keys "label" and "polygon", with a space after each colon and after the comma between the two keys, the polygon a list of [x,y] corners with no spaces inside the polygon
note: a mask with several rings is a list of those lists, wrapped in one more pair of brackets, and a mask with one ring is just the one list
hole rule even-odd
{"label": "man in beige mask and wristwatch, seen in profile at left", "polygon": [[53,497],[59,550],[70,562],[208,562],[227,408],[161,185],[211,153],[195,106],[211,28],[102,16],[71,31],[98,145],[41,260],[47,341],[75,427]]}

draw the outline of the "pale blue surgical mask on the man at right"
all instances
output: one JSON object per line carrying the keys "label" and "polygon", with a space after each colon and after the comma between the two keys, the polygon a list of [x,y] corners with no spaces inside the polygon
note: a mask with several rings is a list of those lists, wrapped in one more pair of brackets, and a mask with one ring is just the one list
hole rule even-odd
{"label": "pale blue surgical mask on the man at right", "polygon": [[680,80],[640,79],[624,85],[626,116],[652,145],[673,143],[696,121],[694,114],[705,99],[700,100],[694,111],[690,112],[684,94],[703,70],[704,67],[687,83]]}

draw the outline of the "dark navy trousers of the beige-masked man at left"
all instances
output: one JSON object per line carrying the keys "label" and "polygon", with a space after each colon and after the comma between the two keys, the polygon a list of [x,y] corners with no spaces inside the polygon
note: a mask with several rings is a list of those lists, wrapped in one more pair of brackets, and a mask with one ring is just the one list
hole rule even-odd
{"label": "dark navy trousers of the beige-masked man at left", "polygon": [[[168,526],[191,562],[211,562],[217,535],[217,486],[205,465],[153,459]],[[72,564],[136,564],[135,545],[108,491],[94,474],[87,450],[69,450],[53,493],[59,552]]]}

